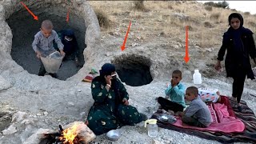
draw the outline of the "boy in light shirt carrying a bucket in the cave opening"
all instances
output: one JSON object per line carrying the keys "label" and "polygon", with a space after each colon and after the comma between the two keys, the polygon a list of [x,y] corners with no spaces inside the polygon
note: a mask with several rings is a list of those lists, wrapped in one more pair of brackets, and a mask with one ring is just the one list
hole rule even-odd
{"label": "boy in light shirt carrying a bucket in the cave opening", "polygon": [[[50,20],[45,20],[42,22],[41,31],[34,35],[34,42],[32,43],[32,47],[34,52],[37,54],[37,57],[40,59],[42,55],[48,56],[49,54],[56,51],[54,49],[54,40],[58,44],[58,49],[62,56],[65,56],[65,52],[63,51],[62,41],[58,38],[58,34],[55,30],[53,30],[54,26]],[[46,74],[46,69],[42,64],[40,59],[41,66],[38,72],[39,76],[44,76]],[[57,74],[50,74],[53,78],[57,77]]]}

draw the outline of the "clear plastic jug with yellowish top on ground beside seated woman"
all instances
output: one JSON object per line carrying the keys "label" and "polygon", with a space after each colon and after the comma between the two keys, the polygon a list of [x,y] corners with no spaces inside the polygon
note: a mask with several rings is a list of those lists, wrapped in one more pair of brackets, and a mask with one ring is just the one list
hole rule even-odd
{"label": "clear plastic jug with yellowish top on ground beside seated woman", "polygon": [[154,138],[158,136],[158,125],[156,119],[148,119],[145,121],[145,127],[147,126],[147,134]]}

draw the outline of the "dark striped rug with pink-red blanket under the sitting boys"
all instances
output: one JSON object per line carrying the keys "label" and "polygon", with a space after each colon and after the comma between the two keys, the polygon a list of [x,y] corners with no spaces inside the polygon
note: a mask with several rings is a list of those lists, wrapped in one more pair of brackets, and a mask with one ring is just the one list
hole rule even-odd
{"label": "dark striped rug with pink-red blanket under the sitting boys", "polygon": [[[222,96],[219,103],[210,103],[209,106],[213,123],[207,128],[182,126],[180,118],[174,124],[158,121],[158,126],[178,132],[196,135],[200,138],[217,140],[222,143],[230,142],[256,142],[256,117],[253,110],[242,101],[242,112],[230,106],[230,98]],[[158,119],[162,110],[153,114]]]}

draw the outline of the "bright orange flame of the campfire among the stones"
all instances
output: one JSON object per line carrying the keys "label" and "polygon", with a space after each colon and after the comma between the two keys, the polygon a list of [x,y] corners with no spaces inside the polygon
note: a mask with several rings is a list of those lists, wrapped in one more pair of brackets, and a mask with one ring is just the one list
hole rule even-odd
{"label": "bright orange flame of the campfire among the stones", "polygon": [[76,138],[76,136],[78,135],[78,126],[79,124],[76,123],[74,124],[74,126],[62,131],[63,137],[61,138],[61,140],[65,140],[63,142],[64,144],[74,144],[74,138]]}

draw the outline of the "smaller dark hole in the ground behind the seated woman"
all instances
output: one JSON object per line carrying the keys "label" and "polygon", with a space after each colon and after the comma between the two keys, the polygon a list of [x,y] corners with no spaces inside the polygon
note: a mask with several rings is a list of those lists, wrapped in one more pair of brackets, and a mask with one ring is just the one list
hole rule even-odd
{"label": "smaller dark hole in the ground behind the seated woman", "polygon": [[129,86],[142,86],[153,81],[150,74],[150,60],[140,56],[118,58],[112,62],[119,78]]}

